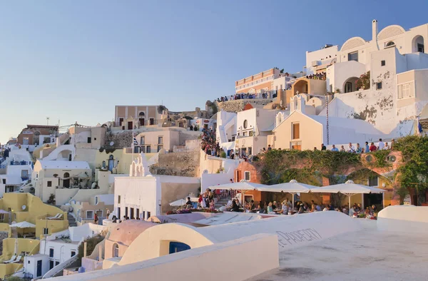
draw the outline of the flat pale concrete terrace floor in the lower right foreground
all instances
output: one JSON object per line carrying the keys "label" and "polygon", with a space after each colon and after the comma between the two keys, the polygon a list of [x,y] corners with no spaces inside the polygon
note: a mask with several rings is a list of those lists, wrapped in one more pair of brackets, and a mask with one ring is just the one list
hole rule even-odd
{"label": "flat pale concrete terrace floor in the lower right foreground", "polygon": [[[280,268],[251,281],[427,280],[428,236],[381,232],[362,221],[347,233],[280,253]],[[264,255],[269,255],[265,252]],[[255,253],[255,258],[263,258]]]}

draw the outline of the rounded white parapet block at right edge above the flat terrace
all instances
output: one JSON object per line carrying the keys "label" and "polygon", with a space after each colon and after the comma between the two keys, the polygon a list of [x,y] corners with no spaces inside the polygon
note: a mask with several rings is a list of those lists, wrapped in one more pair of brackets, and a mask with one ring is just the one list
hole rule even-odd
{"label": "rounded white parapet block at right edge above the flat terrace", "polygon": [[377,229],[428,234],[428,207],[388,206],[377,214]]}

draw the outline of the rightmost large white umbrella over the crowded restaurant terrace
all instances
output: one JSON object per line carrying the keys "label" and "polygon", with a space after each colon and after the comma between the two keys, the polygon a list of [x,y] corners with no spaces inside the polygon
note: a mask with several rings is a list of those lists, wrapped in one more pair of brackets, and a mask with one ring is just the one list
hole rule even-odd
{"label": "rightmost large white umbrella over the crowded restaurant terrace", "polygon": [[346,183],[340,183],[338,185],[322,186],[321,188],[312,188],[312,193],[342,193],[347,195],[349,200],[349,208],[351,208],[351,196],[355,194],[365,193],[384,193],[385,190],[380,188],[372,188],[367,185],[357,185],[352,180],[347,180]]}

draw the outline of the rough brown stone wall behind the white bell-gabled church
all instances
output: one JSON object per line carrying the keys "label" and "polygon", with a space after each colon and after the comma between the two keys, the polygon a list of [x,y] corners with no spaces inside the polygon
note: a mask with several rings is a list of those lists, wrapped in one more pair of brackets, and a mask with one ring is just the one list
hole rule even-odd
{"label": "rough brown stone wall behind the white bell-gabled church", "polygon": [[159,153],[158,165],[151,165],[153,175],[196,177],[199,170],[199,150],[177,153]]}

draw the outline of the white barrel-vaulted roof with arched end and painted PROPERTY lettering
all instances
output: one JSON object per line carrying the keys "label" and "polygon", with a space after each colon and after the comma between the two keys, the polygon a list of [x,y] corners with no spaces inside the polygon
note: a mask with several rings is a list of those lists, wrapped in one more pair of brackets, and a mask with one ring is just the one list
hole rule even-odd
{"label": "white barrel-vaulted roof with arched end and painted PROPERTY lettering", "polygon": [[[247,215],[233,213],[235,215]],[[129,245],[118,265],[129,265],[168,255],[168,241],[182,242],[191,249],[238,240],[261,233],[277,235],[277,247],[288,251],[319,242],[335,235],[360,231],[357,220],[336,211],[316,212],[302,215],[278,215],[263,220],[248,220],[239,223],[195,228],[182,223],[164,223],[148,228]],[[255,259],[258,259],[255,255]],[[107,269],[107,265],[103,265]]]}

